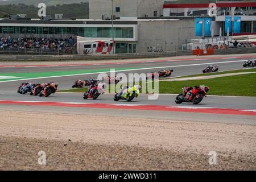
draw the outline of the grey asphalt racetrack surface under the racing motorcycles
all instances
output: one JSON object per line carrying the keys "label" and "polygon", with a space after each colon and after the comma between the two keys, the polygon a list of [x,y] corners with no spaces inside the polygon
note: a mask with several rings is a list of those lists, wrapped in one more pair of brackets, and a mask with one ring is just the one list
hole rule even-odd
{"label": "grey asphalt racetrack surface under the racing motorcycles", "polygon": [[[231,63],[230,61],[238,61]],[[155,68],[146,69],[139,71],[126,71],[123,73],[150,73],[156,72],[160,69],[174,69],[172,77],[183,76],[183,75],[194,75],[200,74],[204,67],[208,64],[219,65],[220,71],[242,69],[243,59],[220,59],[220,60],[196,60],[196,61],[171,61],[171,62],[155,62],[155,63],[129,63],[129,64],[107,64],[107,65],[86,65],[86,66],[72,66],[72,67],[40,67],[40,68],[0,68],[1,73],[18,73],[18,72],[47,72],[47,71],[67,71],[67,70],[93,70],[93,69],[107,69],[107,68],[145,68],[145,67],[167,67],[167,68]],[[225,62],[225,63],[220,63]],[[201,65],[196,65],[201,64]],[[36,80],[27,80],[33,82],[59,82],[59,89],[69,89],[77,79],[87,80],[89,78],[97,78],[96,74],[83,75],[83,76],[68,76],[68,77],[54,77],[54,78],[41,78]],[[80,93],[56,93],[52,94],[48,98],[33,97],[29,95],[20,95],[16,93],[18,86],[24,81],[12,81],[12,82],[0,82],[0,100],[17,100],[17,101],[53,101],[53,102],[96,102],[96,103],[117,103],[113,101],[113,94],[104,94],[98,98],[98,100],[83,100],[82,94]],[[193,86],[193,85],[192,85]],[[134,100],[133,104],[146,104],[146,105],[170,105],[174,106],[175,96],[159,96],[158,100],[147,100],[147,96],[141,95],[138,99]],[[123,103],[125,101],[119,101],[118,103]],[[126,102],[125,102],[126,103]],[[126,103],[127,104],[127,103]],[[191,104],[183,104],[185,106],[191,106]],[[179,105],[180,106],[180,105]],[[256,109],[256,97],[207,97],[204,98],[203,102],[198,107],[220,107],[220,108],[230,108],[230,109]],[[7,106],[0,105],[0,109],[3,108],[13,108],[13,109],[27,109],[35,110],[35,106]],[[43,106],[36,106],[40,108],[40,111],[49,111]],[[249,123],[254,124],[256,117],[253,116],[243,116],[243,115],[224,115],[218,114],[200,114],[200,113],[174,113],[166,111],[129,111],[127,114],[122,110],[114,109],[89,109],[89,108],[67,108],[67,107],[55,107],[56,112],[63,113],[79,113],[79,111],[85,110],[82,114],[92,114],[92,110],[96,111],[97,114],[105,113],[108,111],[113,115],[118,115],[121,117],[129,117],[131,112],[137,113],[136,117],[145,118],[162,118],[162,119],[176,119],[176,120],[189,120],[189,121],[207,121],[207,122],[224,122],[224,123]],[[88,112],[90,111],[90,112]],[[96,114],[96,115],[97,115]],[[207,117],[209,115],[209,117]],[[213,119],[214,118],[214,119]],[[234,119],[236,118],[236,119]]]}

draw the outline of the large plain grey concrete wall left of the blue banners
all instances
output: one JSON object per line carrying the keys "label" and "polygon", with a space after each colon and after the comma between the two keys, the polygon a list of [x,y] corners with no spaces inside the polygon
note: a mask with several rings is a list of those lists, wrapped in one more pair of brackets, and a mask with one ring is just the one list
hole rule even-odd
{"label": "large plain grey concrete wall left of the blue banners", "polygon": [[194,19],[141,20],[138,21],[137,52],[146,52],[146,47],[177,51],[186,39],[190,42],[195,38]]}

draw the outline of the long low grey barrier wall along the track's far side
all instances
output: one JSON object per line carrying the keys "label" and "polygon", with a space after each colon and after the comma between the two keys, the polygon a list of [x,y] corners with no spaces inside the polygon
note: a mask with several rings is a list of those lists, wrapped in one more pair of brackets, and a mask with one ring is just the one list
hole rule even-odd
{"label": "long low grey barrier wall along the track's far side", "polygon": [[[200,55],[205,51],[201,51]],[[256,53],[256,47],[247,48],[232,48],[232,49],[214,49],[214,55],[229,55],[229,54],[243,54]],[[136,59],[136,58],[154,58],[154,57],[172,57],[172,56],[189,56],[193,55],[193,51],[173,51],[173,52],[154,52],[154,53],[125,53],[115,55],[0,55],[0,61],[10,60],[102,60],[102,59]]]}

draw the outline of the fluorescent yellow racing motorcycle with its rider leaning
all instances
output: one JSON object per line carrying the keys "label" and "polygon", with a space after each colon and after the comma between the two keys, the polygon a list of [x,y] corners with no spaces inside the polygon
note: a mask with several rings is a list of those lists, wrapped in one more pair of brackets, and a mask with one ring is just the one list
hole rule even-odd
{"label": "fluorescent yellow racing motorcycle with its rider leaning", "polygon": [[127,102],[130,102],[134,100],[134,98],[139,96],[139,90],[138,87],[133,86],[133,87],[127,87],[126,90],[123,90],[122,94],[115,94],[114,96],[114,101],[119,101],[119,100],[126,100]]}

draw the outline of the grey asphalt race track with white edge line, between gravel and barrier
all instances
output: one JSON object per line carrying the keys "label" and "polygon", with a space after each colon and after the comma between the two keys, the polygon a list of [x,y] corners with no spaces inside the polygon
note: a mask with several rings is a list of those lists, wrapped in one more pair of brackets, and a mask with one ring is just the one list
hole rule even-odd
{"label": "grey asphalt race track with white edge line, between gravel and barrier", "polygon": [[[253,56],[252,56],[253,57]],[[255,57],[255,56],[254,56]],[[113,63],[113,64],[89,64],[89,65],[43,65],[40,67],[0,67],[1,74],[6,73],[39,73],[39,72],[67,72],[67,71],[88,71],[86,75],[77,76],[56,76],[49,78],[33,78],[26,81],[32,82],[59,82],[58,89],[70,89],[73,82],[77,79],[87,80],[89,78],[97,78],[97,73],[95,70],[105,70],[105,69],[119,69],[122,73],[150,73],[156,72],[160,69],[174,69],[172,77],[199,74],[209,64],[219,65],[220,71],[241,69],[243,61],[246,59],[242,58],[221,58],[220,59],[200,59],[199,60],[164,60],[164,61],[147,61],[147,63],[142,63],[140,61],[135,61],[137,63]],[[122,69],[128,69],[123,71]],[[90,72],[92,71],[92,72]],[[117,72],[117,73],[119,73]],[[233,110],[250,110],[250,113],[255,113],[256,109],[256,98],[255,97],[219,97],[219,96],[209,96],[204,98],[200,105],[192,104],[182,104],[176,105],[174,100],[174,95],[160,95],[158,100],[148,100],[147,95],[141,94],[139,98],[133,102],[127,103],[126,101],[113,101],[113,94],[104,94],[98,98],[98,100],[83,100],[81,93],[55,93],[48,98],[40,98],[29,95],[20,95],[16,93],[16,90],[23,80],[17,81],[7,81],[1,82],[0,80],[0,101],[28,101],[34,103],[36,101],[42,102],[68,102],[68,103],[88,103],[88,104],[106,104],[106,105],[150,105],[150,106],[170,106],[170,107],[185,107],[181,111],[164,111],[164,110],[137,110],[131,109],[127,112],[125,107],[120,108],[108,108],[108,107],[57,107],[57,106],[43,106],[43,105],[10,105],[7,103],[0,102],[0,109],[15,109],[15,110],[31,110],[31,111],[46,111],[46,112],[56,112],[56,113],[73,113],[73,114],[92,114],[93,115],[116,115],[119,117],[128,117],[133,115],[134,117],[142,118],[159,118],[159,119],[176,119],[176,120],[186,120],[186,121],[207,121],[207,122],[222,122],[222,123],[246,123],[251,125],[256,125],[256,119],[254,114],[237,114],[232,115],[230,113],[205,113],[205,112],[195,112],[195,109],[210,109],[210,108],[220,108],[220,109],[233,109]],[[28,103],[27,102],[27,103]],[[97,107],[97,108],[96,108]],[[191,107],[191,108],[189,108]],[[184,109],[184,108],[183,108]],[[232,112],[231,112],[232,113]]]}

